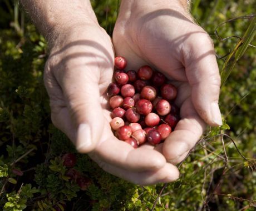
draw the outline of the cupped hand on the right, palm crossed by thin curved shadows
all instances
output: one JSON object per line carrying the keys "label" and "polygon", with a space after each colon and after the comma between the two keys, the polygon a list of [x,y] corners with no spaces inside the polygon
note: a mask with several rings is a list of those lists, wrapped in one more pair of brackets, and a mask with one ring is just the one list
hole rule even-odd
{"label": "cupped hand on the right, palm crossed by thin curved shadows", "polygon": [[181,120],[156,147],[174,164],[186,157],[206,123],[222,124],[213,44],[181,2],[186,1],[123,0],[113,34],[116,54],[127,59],[128,69],[149,64],[178,88]]}

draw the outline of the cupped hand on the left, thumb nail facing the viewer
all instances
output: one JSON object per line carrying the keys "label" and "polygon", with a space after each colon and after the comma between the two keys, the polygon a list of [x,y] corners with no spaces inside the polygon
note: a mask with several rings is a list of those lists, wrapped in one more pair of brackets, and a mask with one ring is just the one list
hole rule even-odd
{"label": "cupped hand on the left, thumb nail facing the viewer", "polygon": [[114,50],[104,29],[92,22],[58,34],[45,66],[53,124],[106,172],[141,185],[177,179],[178,169],[163,154],[147,147],[135,150],[112,133],[105,93]]}

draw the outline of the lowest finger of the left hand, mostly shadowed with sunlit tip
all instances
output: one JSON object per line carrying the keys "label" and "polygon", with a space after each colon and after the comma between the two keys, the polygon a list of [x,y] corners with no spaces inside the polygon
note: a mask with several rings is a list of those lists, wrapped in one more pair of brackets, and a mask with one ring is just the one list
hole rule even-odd
{"label": "lowest finger of the left hand, mostly shadowed with sunlit tip", "polygon": [[166,163],[158,170],[147,170],[144,172],[133,172],[121,167],[116,167],[101,160],[95,160],[106,172],[129,182],[139,185],[151,185],[157,183],[169,183],[179,178],[179,170],[175,165]]}

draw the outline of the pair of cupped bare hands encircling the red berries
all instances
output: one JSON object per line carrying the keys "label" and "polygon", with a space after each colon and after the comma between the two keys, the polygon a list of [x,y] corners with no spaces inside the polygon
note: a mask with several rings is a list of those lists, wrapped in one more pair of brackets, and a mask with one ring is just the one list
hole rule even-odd
{"label": "pair of cupped bare hands encircling the red berries", "polygon": [[[52,122],[106,172],[140,185],[172,182],[206,124],[221,125],[214,47],[181,4],[121,5],[112,40],[92,16],[53,43],[45,67]],[[127,69],[150,65],[178,88],[181,119],[164,143],[134,149],[111,131],[106,89],[115,55]]]}

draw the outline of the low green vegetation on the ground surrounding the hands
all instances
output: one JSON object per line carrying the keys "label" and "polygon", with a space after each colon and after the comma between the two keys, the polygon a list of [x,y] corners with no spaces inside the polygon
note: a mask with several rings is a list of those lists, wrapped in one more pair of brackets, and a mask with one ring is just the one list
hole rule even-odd
{"label": "low green vegetation on the ground surrounding the hands", "polygon": [[[150,210],[156,202],[155,210],[255,210],[255,1],[192,2],[191,12],[213,39],[218,57],[228,54],[218,59],[225,124],[208,128],[180,164],[180,179],[157,198],[163,184],[140,187],[104,172],[51,124],[43,86],[45,39],[17,1],[0,0],[0,208]],[[119,1],[92,4],[111,34]],[[228,21],[232,18],[237,19]],[[61,157],[67,152],[77,156],[74,168],[91,178],[86,190],[65,175]]]}

